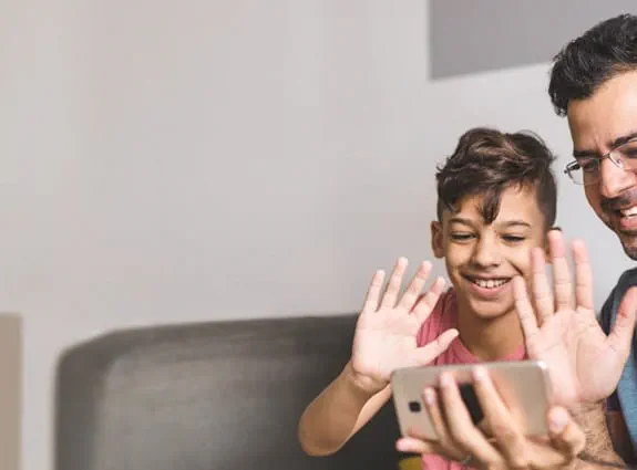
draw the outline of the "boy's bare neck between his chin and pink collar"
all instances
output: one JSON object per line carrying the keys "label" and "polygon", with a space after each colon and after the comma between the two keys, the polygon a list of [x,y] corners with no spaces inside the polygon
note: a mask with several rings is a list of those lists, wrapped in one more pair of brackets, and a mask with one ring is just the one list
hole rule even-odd
{"label": "boy's bare neck between his chin and pink collar", "polygon": [[484,362],[511,356],[524,345],[524,334],[514,310],[486,320],[459,305],[458,331],[464,347]]}

